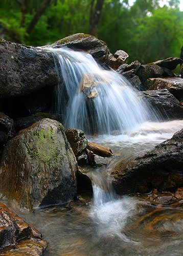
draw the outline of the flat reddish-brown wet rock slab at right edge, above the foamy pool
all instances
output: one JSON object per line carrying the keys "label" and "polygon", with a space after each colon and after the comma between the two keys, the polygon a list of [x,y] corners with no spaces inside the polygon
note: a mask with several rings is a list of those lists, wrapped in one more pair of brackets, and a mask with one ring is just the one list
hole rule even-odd
{"label": "flat reddish-brown wet rock slab at right edge, above the foamy pool", "polygon": [[183,98],[183,80],[173,78],[149,78],[144,84],[146,90],[167,89],[178,100]]}

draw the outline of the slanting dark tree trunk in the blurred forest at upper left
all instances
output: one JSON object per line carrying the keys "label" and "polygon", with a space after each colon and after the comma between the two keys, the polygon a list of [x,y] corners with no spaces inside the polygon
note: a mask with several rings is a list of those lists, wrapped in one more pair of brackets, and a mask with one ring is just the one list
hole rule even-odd
{"label": "slanting dark tree trunk in the blurred forest at upper left", "polygon": [[52,0],[44,0],[40,7],[37,9],[33,19],[31,20],[31,23],[29,24],[29,27],[27,28],[27,33],[30,34],[34,27],[36,26],[38,20],[40,19],[41,15],[44,13],[45,9],[51,4]]}

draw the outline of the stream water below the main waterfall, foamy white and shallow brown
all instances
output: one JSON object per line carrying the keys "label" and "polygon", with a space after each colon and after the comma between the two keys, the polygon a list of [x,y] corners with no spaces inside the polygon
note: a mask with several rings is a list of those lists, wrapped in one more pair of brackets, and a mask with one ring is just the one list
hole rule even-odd
{"label": "stream water below the main waterfall, foamy white and shallow brown", "polygon": [[[145,122],[131,134],[88,139],[124,157],[152,148],[182,127],[183,120]],[[93,167],[87,172],[99,177],[103,170]],[[119,197],[110,185],[106,192],[93,182],[93,199],[86,203],[76,200],[33,213],[19,211],[15,202],[3,203],[42,233],[50,256],[182,255],[183,211],[178,204],[152,204],[135,195]]]}

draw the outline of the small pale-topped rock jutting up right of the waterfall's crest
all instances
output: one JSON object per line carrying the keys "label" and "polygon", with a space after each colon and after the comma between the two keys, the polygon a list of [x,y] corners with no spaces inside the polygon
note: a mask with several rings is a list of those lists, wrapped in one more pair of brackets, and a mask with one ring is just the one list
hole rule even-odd
{"label": "small pale-topped rock jutting up right of the waterfall's crest", "polygon": [[116,53],[110,58],[109,66],[117,70],[121,65],[123,65],[128,58],[128,54],[123,50],[118,50]]}

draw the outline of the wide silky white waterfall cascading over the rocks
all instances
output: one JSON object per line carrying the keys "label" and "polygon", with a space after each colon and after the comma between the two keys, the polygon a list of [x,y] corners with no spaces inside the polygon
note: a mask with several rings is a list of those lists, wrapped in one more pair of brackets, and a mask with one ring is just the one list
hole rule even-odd
{"label": "wide silky white waterfall cascading over the rocks", "polygon": [[59,77],[54,112],[63,114],[65,128],[121,134],[149,119],[149,109],[122,75],[105,70],[85,52],[46,50],[53,53]]}

